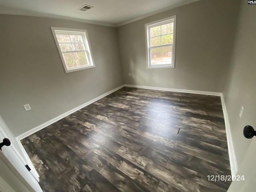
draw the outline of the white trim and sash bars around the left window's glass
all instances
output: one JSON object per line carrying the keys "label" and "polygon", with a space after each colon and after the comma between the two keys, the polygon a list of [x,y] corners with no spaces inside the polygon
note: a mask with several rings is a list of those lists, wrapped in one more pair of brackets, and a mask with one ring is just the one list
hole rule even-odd
{"label": "white trim and sash bars around the left window's glass", "polygon": [[[62,61],[64,70],[65,70],[66,73],[70,73],[70,72],[74,72],[74,71],[79,71],[79,70],[84,70],[84,69],[89,69],[89,68],[94,68],[95,67],[94,59],[93,59],[93,56],[92,56],[92,48],[90,46],[90,41],[89,41],[89,38],[88,38],[87,30],[83,30],[83,29],[70,29],[70,28],[62,28],[62,27],[51,27],[51,29],[52,29],[52,34],[54,36],[54,40],[55,40],[56,46],[58,48],[58,52],[60,54],[60,59]],[[78,66],[78,67],[73,67],[73,68],[68,69],[66,67],[64,58],[62,56],[62,52],[60,50],[60,45],[58,43],[55,30],[74,32],[74,33],[75,32],[83,32],[84,33],[83,41],[84,41],[84,44],[86,45],[86,48],[87,48],[87,50],[84,50],[84,51],[86,52],[86,58],[89,59],[90,65]],[[79,51],[70,51],[70,52],[79,52]]]}

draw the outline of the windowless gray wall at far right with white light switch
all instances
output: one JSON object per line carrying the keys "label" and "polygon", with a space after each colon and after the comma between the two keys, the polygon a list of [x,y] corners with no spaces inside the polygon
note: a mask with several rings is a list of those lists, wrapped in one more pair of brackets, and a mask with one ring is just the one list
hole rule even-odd
{"label": "windowless gray wall at far right with white light switch", "polygon": [[[242,1],[238,30],[229,69],[227,86],[223,92],[234,142],[238,170],[252,139],[243,136],[243,128],[256,129],[256,11],[254,5]],[[242,118],[239,117],[244,107]],[[256,138],[253,138],[254,140]]]}

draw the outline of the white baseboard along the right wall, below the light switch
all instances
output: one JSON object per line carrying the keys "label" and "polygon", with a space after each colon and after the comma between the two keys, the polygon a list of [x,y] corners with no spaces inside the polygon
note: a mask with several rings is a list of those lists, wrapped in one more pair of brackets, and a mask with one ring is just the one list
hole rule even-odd
{"label": "white baseboard along the right wall, below the light switch", "polygon": [[230,131],[228,111],[227,111],[227,108],[226,108],[226,104],[225,104],[225,101],[224,101],[223,94],[221,94],[220,98],[221,98],[221,105],[222,105],[225,127],[226,127],[226,136],[227,136],[227,142],[228,142],[228,154],[229,154],[229,161],[230,161],[230,170],[231,170],[232,176],[235,176],[236,173],[237,173],[238,167],[237,167],[237,162],[236,162],[236,154],[235,154],[235,150],[234,150],[232,135],[231,135],[231,131]]}

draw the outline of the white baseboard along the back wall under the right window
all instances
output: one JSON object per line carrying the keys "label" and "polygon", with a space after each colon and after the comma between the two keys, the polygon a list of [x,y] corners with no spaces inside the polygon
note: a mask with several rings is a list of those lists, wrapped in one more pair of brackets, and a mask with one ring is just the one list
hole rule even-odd
{"label": "white baseboard along the back wall under the right window", "polygon": [[193,94],[213,95],[213,96],[221,96],[221,94],[222,94],[219,92],[196,91],[196,90],[186,90],[186,89],[171,89],[171,88],[148,87],[148,86],[139,86],[139,85],[127,85],[127,84],[124,84],[124,86],[125,87],[141,88],[141,89],[152,89],[152,90],[160,90],[160,91],[172,91],[172,92],[193,93]]}

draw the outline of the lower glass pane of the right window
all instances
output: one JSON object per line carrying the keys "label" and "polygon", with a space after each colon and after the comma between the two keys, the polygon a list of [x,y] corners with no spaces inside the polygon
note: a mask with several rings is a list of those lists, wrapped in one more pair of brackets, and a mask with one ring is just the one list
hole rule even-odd
{"label": "lower glass pane of the right window", "polygon": [[151,65],[172,64],[172,45],[151,48]]}

